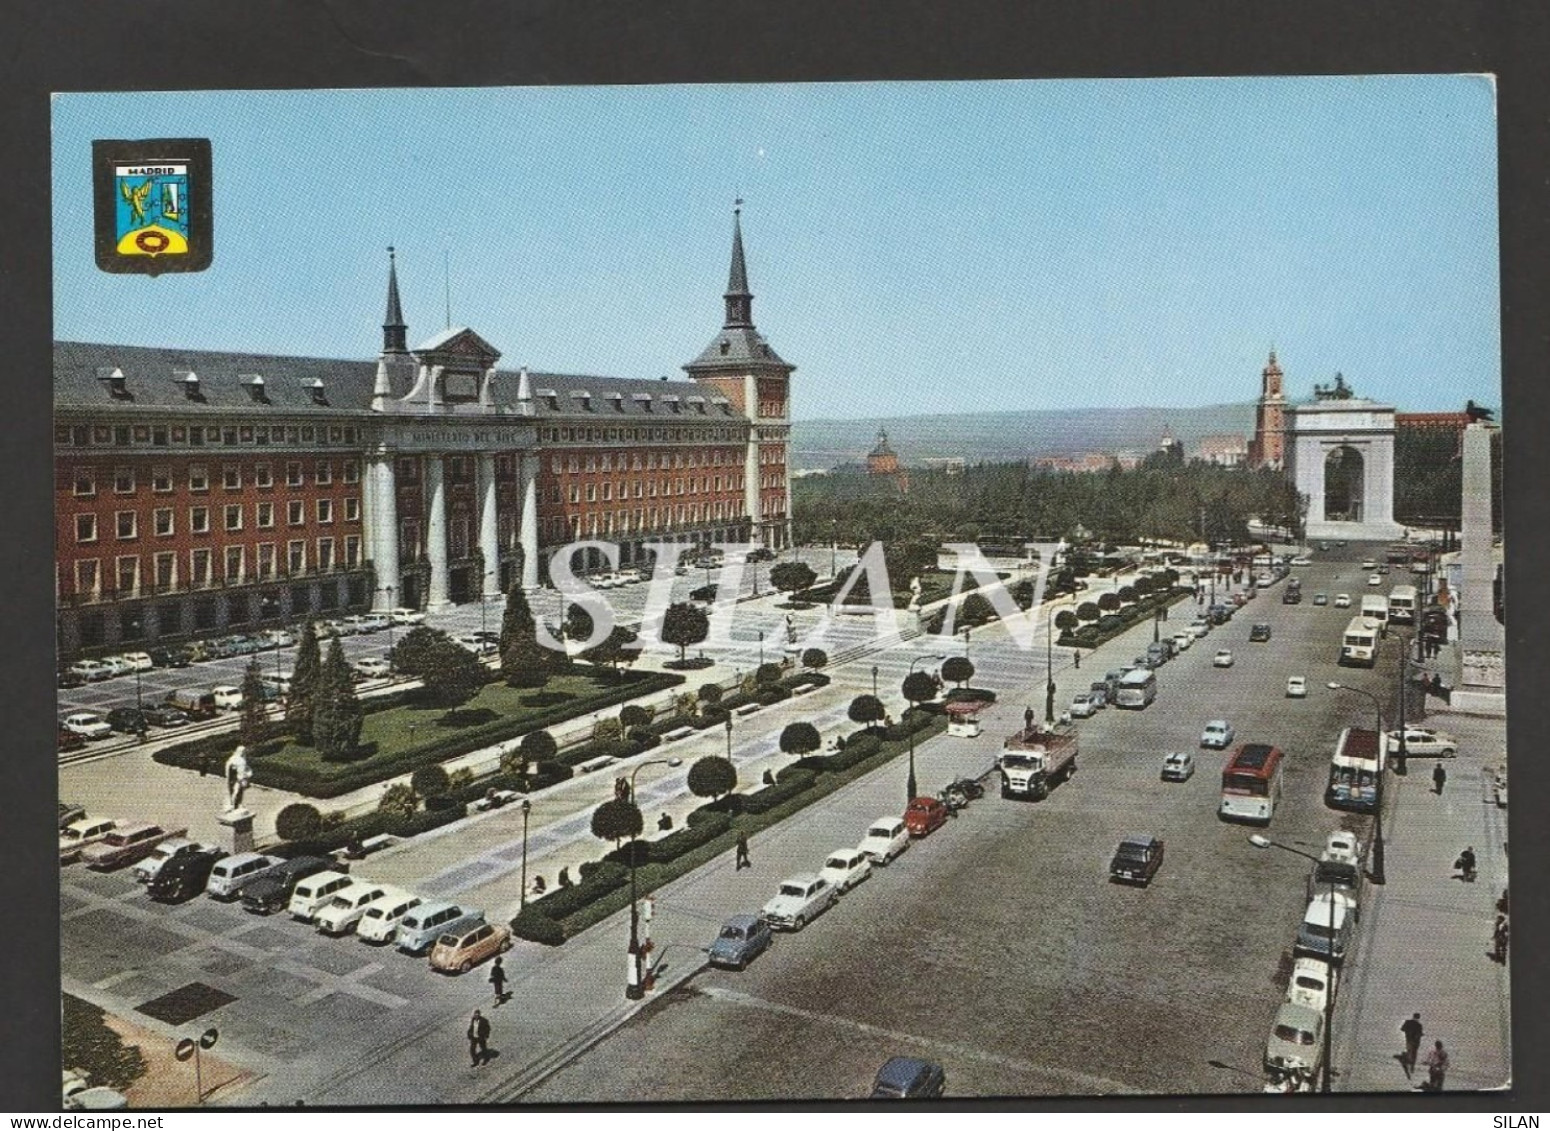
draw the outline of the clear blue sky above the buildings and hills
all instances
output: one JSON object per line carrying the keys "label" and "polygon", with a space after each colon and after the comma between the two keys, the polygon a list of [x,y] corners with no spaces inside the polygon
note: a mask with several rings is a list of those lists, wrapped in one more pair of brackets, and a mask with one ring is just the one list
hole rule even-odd
{"label": "clear blue sky above the buildings and hills", "polygon": [[[215,259],[99,273],[93,138],[208,136]],[[1251,400],[1336,370],[1500,403],[1482,77],[59,95],[57,338],[370,358],[411,344],[679,376],[741,195],[797,418]]]}

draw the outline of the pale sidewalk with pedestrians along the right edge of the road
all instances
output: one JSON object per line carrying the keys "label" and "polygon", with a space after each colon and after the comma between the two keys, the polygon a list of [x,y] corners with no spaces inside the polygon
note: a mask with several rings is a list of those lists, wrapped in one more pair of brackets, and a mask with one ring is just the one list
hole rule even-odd
{"label": "pale sidewalk with pedestrians along the right edge of the road", "polygon": [[[1442,658],[1437,666],[1454,666],[1452,649]],[[1437,699],[1428,706],[1428,725],[1457,734],[1460,750],[1443,759],[1442,796],[1432,792],[1435,759],[1410,759],[1406,776],[1389,776],[1387,883],[1369,889],[1353,968],[1335,1007],[1331,1063],[1341,1092],[1406,1091],[1426,1080],[1424,1063],[1406,1078],[1397,1058],[1400,1024],[1417,1012],[1426,1030],[1423,1060],[1435,1040],[1448,1050],[1446,1091],[1511,1083],[1511,956],[1499,965],[1488,954],[1508,866],[1507,810],[1496,807],[1485,767],[1502,761],[1505,728],[1500,719],[1448,714]],[[1474,883],[1451,878],[1465,846],[1479,860]]]}

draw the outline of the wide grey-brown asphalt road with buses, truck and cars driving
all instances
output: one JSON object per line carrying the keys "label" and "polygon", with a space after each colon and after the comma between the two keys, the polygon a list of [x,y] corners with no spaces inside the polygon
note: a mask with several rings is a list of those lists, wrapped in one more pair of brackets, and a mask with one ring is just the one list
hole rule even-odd
{"label": "wide grey-brown asphalt road with buses, truck and cars driving", "polygon": [[[1252,829],[1217,818],[1226,755],[1197,750],[1200,730],[1226,717],[1240,742],[1268,741],[1286,753],[1269,835],[1316,851],[1331,829],[1366,824],[1325,809],[1322,787],[1339,728],[1372,719],[1369,700],[1325,683],[1392,686],[1383,668],[1336,666],[1350,612],[1311,604],[1314,592],[1364,592],[1355,566],[1321,556],[1297,573],[1302,604],[1282,604],[1276,586],[1166,665],[1150,708],[1110,708],[1080,724],[1079,772],[1048,801],[992,793],[975,803],[800,936],[780,937],[747,971],[707,970],[525,1098],[856,1097],[899,1054],[942,1063],[953,1095],[1259,1091],[1307,865],[1251,847]],[[1176,606],[1173,627],[1187,609]],[[1273,626],[1271,643],[1248,643],[1254,621]],[[1135,629],[1083,668],[1116,666],[1150,635],[1150,626]],[[1212,668],[1223,646],[1235,663]],[[1291,674],[1307,677],[1308,699],[1283,697]],[[1062,679],[1076,683],[1070,672]],[[990,685],[1003,694],[990,734],[1011,731],[1037,680]],[[983,765],[998,741],[981,742],[978,758],[953,756]],[[938,739],[922,764],[964,745]],[[1176,748],[1197,750],[1198,770],[1184,784],[1164,784],[1162,753]],[[897,770],[862,787],[876,790],[876,801],[842,793],[826,807],[848,816],[846,829],[866,804],[887,812],[899,790],[890,775]],[[787,840],[804,843],[781,846],[792,865],[845,843],[825,813],[801,826]],[[1130,832],[1167,843],[1147,889],[1107,882],[1110,854]],[[744,897],[752,906],[694,906],[704,944],[718,914],[753,909],[772,892],[773,883],[766,886]]]}

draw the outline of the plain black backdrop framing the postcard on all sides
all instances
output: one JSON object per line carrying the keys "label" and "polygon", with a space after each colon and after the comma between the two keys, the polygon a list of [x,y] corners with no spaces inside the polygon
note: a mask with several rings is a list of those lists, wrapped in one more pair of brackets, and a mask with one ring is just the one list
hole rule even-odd
{"label": "plain black backdrop framing the postcard on all sides", "polygon": [[[839,79],[1491,73],[1499,79],[1516,1089],[1333,1097],[1325,1111],[1538,1111],[1545,1041],[1550,6],[1434,0],[388,0],[17,5],[0,42],[0,1109],[59,1105],[51,511],[50,93]],[[1274,170],[1266,170],[1274,175]],[[29,205],[31,201],[31,205]],[[1415,234],[1424,240],[1424,232]],[[1440,973],[1446,976],[1446,973]],[[1032,1019],[1037,1027],[1037,1019]],[[1274,1100],[1274,1097],[1271,1097]],[[1049,1102],[1056,1111],[1231,1111],[1262,1100]],[[1286,1100],[1276,1100],[1283,1106]],[[955,1105],[958,1106],[958,1105]],[[1001,1106],[1001,1105],[966,1105]],[[1026,1103],[1017,1106],[1029,1106]]]}

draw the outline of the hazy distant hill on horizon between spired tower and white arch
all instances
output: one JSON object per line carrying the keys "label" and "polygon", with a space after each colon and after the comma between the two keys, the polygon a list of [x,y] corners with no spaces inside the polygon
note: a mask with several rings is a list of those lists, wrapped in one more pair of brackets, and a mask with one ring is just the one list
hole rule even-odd
{"label": "hazy distant hill on horizon between spired tower and white arch", "polygon": [[927,459],[963,457],[969,463],[1004,463],[1031,455],[1088,451],[1155,451],[1170,431],[1190,452],[1203,435],[1254,432],[1254,404],[1206,404],[1194,409],[1045,409],[966,412],[935,417],[792,421],[792,468],[860,463],[888,429],[888,443],[908,466]]}

